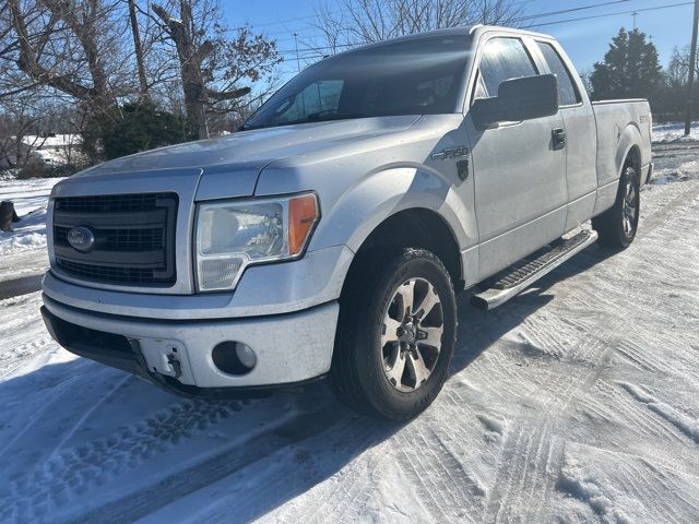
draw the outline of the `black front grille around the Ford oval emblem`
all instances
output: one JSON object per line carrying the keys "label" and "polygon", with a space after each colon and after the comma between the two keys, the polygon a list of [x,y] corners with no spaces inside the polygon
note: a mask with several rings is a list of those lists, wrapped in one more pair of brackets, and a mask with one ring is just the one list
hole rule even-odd
{"label": "black front grille around the Ford oval emblem", "polygon": [[[56,199],[54,252],[58,267],[81,279],[125,285],[173,284],[175,273],[174,193]],[[69,231],[94,236],[87,252],[74,249]]]}

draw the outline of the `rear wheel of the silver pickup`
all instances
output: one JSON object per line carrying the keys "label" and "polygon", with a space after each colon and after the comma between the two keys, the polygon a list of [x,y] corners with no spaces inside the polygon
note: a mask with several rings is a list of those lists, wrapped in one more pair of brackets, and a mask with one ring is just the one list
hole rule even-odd
{"label": "rear wheel of the silver pickup", "polygon": [[614,205],[592,219],[600,243],[625,249],[633,241],[640,213],[639,177],[632,166],[626,166],[619,179]]}

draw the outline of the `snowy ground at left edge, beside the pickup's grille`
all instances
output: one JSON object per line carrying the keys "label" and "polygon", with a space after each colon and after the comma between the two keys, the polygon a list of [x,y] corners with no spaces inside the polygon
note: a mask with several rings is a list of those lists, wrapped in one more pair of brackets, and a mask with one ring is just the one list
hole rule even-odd
{"label": "snowy ground at left edge, beside the pickup's grille", "polygon": [[60,178],[16,180],[0,178],[0,201],[14,203],[22,218],[13,231],[0,231],[0,282],[45,271],[46,205],[51,188]]}

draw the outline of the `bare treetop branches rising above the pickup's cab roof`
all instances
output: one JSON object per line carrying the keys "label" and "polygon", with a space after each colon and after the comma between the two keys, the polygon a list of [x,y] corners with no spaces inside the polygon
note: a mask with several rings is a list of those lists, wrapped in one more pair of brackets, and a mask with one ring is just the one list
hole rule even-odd
{"label": "bare treetop branches rising above the pickup's cab roof", "polygon": [[312,25],[322,34],[322,45],[307,46],[327,55],[445,27],[516,25],[522,8],[513,0],[341,0],[339,5],[321,4],[316,11]]}

